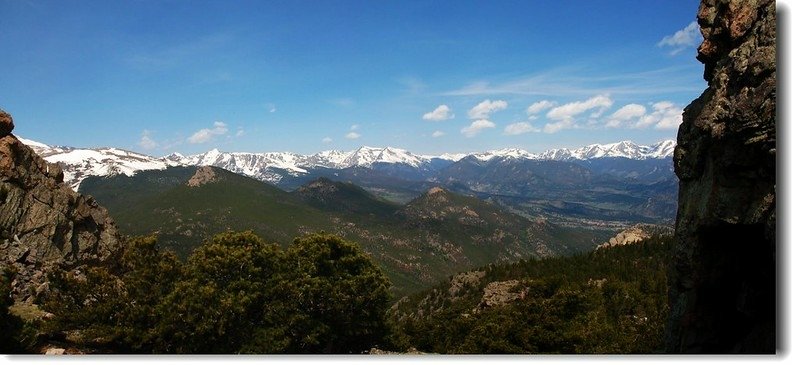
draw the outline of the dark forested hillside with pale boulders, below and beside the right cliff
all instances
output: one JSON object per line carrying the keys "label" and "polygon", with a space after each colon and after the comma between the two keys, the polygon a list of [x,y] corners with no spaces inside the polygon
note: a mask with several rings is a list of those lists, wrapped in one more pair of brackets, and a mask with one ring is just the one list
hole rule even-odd
{"label": "dark forested hillside with pale boulders, below and beside the right cliff", "polygon": [[661,353],[672,240],[455,275],[392,307],[394,343],[434,353]]}

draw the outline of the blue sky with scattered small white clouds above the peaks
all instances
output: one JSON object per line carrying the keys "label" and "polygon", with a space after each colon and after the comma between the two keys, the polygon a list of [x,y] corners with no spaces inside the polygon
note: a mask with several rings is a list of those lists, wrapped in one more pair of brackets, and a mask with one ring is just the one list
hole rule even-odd
{"label": "blue sky with scattered small white clouds above the peaks", "polygon": [[0,108],[57,145],[416,153],[676,138],[698,1],[0,0]]}

